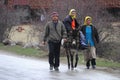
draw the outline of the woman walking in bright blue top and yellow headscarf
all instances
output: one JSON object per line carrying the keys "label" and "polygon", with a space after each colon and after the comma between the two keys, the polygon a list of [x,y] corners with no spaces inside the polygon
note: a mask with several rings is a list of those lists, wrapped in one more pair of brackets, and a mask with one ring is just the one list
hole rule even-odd
{"label": "woman walking in bright blue top and yellow headscarf", "polygon": [[85,50],[84,58],[86,61],[87,69],[90,68],[90,64],[92,68],[96,68],[96,48],[95,44],[99,43],[99,35],[97,29],[92,24],[92,18],[90,16],[85,17],[84,25],[81,27],[81,31],[85,35],[86,44],[88,45],[88,49]]}

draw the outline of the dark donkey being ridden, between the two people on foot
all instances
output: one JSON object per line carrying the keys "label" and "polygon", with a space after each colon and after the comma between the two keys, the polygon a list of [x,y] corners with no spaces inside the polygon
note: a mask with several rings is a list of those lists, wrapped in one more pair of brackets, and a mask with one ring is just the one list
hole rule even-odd
{"label": "dark donkey being ridden, between the two people on foot", "polygon": [[[79,40],[74,39],[72,36],[67,38],[67,41],[64,43],[65,52],[67,55],[68,69],[74,70],[78,64],[78,46]],[[75,58],[75,59],[74,59]]]}

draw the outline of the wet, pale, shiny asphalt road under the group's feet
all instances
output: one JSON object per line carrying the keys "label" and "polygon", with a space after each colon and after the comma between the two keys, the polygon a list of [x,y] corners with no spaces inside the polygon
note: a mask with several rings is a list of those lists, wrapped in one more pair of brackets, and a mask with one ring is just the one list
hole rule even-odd
{"label": "wet, pale, shiny asphalt road under the group's feet", "polygon": [[78,66],[71,71],[66,64],[60,71],[49,71],[45,60],[11,56],[0,51],[0,80],[120,80],[119,76]]}

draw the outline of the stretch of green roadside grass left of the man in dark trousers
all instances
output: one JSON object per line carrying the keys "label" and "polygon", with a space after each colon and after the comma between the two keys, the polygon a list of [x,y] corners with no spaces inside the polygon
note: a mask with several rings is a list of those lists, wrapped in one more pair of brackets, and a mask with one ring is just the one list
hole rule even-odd
{"label": "stretch of green roadside grass left of the man in dark trousers", "polygon": [[35,48],[22,48],[21,46],[4,46],[0,43],[0,50],[4,50],[7,52],[12,52],[17,55],[24,55],[24,56],[30,56],[30,57],[37,57],[42,58],[47,55],[45,51],[38,50]]}

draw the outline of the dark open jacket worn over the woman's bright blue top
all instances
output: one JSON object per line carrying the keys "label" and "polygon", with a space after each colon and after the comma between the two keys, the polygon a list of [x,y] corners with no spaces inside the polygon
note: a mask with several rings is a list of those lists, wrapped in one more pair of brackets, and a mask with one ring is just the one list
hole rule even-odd
{"label": "dark open jacket worn over the woman's bright blue top", "polygon": [[[94,42],[96,43],[99,43],[99,35],[98,35],[98,32],[97,32],[97,29],[93,26],[93,25],[90,25],[92,27],[92,38],[94,40]],[[81,27],[81,31],[83,32],[83,34],[85,35],[85,31],[86,31],[86,25],[83,25]],[[86,35],[85,35],[86,36]]]}

